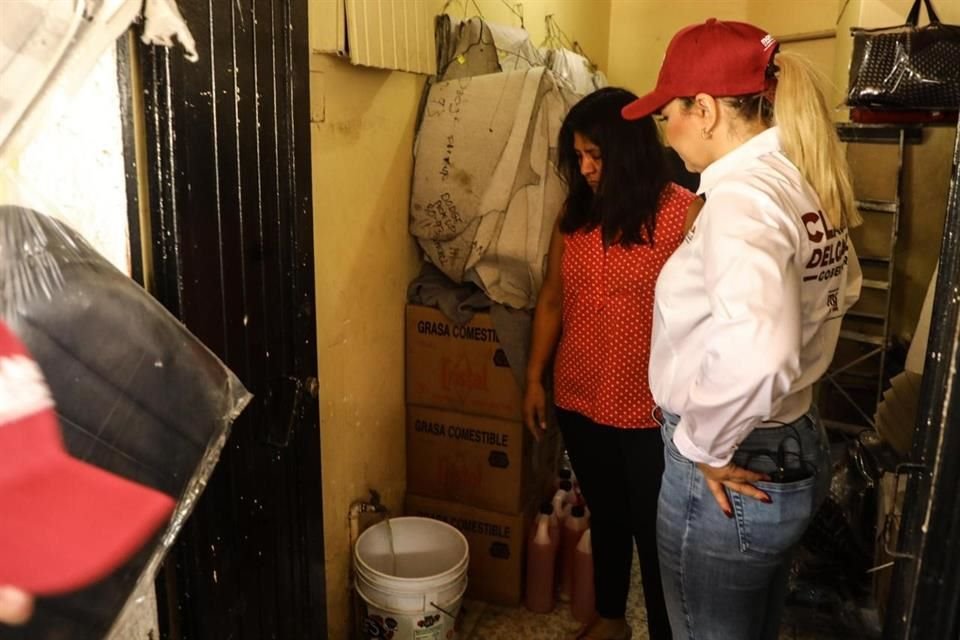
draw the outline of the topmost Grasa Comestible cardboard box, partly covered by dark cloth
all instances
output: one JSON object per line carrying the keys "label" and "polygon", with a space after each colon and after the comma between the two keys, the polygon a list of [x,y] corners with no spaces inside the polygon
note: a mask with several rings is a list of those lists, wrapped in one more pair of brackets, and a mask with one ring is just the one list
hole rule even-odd
{"label": "topmost Grasa Comestible cardboard box, partly covered by dark cloth", "polygon": [[407,403],[520,420],[522,397],[490,315],[457,325],[407,305]]}

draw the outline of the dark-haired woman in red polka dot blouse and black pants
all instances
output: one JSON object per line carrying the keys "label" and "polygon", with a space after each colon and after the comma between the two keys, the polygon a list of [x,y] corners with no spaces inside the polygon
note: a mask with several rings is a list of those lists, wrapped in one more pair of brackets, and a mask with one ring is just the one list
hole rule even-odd
{"label": "dark-haired woman in red polka dot blouse and black pants", "polygon": [[589,640],[630,637],[634,543],[650,637],[670,637],[655,540],[663,444],[646,372],[654,284],[702,203],[669,181],[653,120],[621,117],[635,99],[601,89],[560,130],[569,191],[537,299],[524,395],[524,420],[539,438],[543,373],[556,350],[557,419],[591,512],[599,618],[577,635]]}

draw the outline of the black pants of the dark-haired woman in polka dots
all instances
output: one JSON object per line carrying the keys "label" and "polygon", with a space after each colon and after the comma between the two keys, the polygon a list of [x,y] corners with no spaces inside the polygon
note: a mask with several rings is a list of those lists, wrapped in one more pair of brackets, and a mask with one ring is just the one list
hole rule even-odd
{"label": "black pants of the dark-haired woman in polka dots", "polygon": [[557,421],[590,507],[597,612],[622,618],[633,544],[640,558],[651,640],[669,640],[657,559],[657,498],[663,475],[659,429],[619,429],[557,407]]}

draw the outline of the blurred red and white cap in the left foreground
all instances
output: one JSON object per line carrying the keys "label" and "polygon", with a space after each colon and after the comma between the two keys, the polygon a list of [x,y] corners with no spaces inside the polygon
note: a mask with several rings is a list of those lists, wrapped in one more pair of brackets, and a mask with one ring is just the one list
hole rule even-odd
{"label": "blurred red and white cap in the left foreground", "polygon": [[173,511],[170,496],[72,458],[39,365],[0,323],[0,585],[58,595],[106,577]]}

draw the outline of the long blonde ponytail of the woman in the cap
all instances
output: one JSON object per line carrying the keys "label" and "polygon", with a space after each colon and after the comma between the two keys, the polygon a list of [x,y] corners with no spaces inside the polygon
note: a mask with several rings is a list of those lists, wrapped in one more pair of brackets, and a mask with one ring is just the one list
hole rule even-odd
{"label": "long blonde ponytail of the woman in the cap", "polygon": [[855,227],[863,219],[853,198],[846,154],[830,119],[823,77],[803,56],[778,53],[774,121],[783,152],[820,198],[823,212],[836,229]]}

